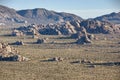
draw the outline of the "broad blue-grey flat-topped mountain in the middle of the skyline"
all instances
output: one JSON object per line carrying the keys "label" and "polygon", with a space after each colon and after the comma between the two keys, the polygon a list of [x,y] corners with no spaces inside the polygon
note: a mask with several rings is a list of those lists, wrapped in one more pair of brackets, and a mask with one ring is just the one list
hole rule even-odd
{"label": "broad blue-grey flat-topped mountain in the middle of the skyline", "polygon": [[81,17],[64,12],[55,12],[49,11],[43,8],[36,8],[36,9],[27,9],[27,10],[20,10],[17,13],[25,18],[30,23],[56,23],[56,22],[64,22],[64,21],[71,21],[71,20],[83,20]]}

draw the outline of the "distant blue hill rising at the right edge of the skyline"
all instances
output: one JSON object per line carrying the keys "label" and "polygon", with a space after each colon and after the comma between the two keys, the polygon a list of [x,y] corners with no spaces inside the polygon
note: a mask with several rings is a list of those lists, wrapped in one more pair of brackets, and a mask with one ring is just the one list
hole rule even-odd
{"label": "distant blue hill rising at the right edge of the skyline", "polygon": [[120,24],[120,12],[118,13],[113,12],[111,14],[96,17],[95,20],[108,21],[115,24]]}

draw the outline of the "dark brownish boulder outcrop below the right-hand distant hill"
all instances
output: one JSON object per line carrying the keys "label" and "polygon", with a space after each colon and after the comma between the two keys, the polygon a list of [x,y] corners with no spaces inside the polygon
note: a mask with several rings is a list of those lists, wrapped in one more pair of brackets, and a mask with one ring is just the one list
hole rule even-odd
{"label": "dark brownish boulder outcrop below the right-hand distant hill", "polygon": [[120,33],[120,26],[98,20],[85,20],[80,23],[80,26],[83,26],[89,33],[103,33],[103,34],[114,34]]}

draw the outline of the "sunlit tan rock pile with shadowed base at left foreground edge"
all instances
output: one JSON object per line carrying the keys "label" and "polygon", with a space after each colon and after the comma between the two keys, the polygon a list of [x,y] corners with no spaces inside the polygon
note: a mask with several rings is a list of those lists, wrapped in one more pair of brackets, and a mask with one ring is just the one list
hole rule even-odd
{"label": "sunlit tan rock pile with shadowed base at left foreground edge", "polygon": [[29,59],[19,55],[19,52],[8,44],[0,42],[0,61],[28,61]]}

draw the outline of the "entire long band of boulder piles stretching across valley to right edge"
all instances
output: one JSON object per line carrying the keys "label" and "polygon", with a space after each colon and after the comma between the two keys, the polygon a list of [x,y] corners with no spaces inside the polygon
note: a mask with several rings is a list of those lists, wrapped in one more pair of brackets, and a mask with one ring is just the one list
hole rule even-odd
{"label": "entire long band of boulder piles stretching across valley to right edge", "polygon": [[29,26],[21,26],[12,32],[12,35],[71,35],[81,32],[81,27],[86,29],[86,32],[92,34],[114,34],[120,33],[120,25],[115,25],[106,21],[98,21],[94,19],[74,20],[59,23],[49,24],[31,24]]}

